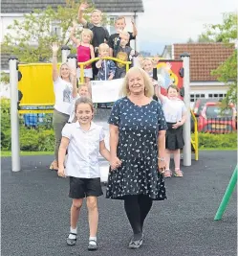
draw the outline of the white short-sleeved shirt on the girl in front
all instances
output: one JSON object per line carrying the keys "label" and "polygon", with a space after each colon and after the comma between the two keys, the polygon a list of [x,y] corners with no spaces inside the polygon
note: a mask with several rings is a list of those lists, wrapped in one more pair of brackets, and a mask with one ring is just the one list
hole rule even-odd
{"label": "white short-sleeved shirt on the girl in front", "polygon": [[66,124],[62,136],[70,140],[65,173],[68,176],[100,177],[98,152],[99,142],[104,140],[103,128],[91,123],[89,130],[83,130],[79,123]]}

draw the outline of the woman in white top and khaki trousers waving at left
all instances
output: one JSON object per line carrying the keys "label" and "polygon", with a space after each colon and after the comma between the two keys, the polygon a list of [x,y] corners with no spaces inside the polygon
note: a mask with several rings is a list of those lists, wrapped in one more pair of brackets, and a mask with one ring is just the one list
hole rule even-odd
{"label": "woman in white top and khaki trousers waving at left", "polygon": [[58,164],[58,148],[61,140],[61,131],[65,124],[68,122],[71,114],[71,103],[73,100],[72,83],[76,83],[76,72],[71,71],[68,63],[62,63],[57,70],[57,52],[59,46],[57,43],[53,43],[53,81],[54,81],[54,114],[53,114],[53,125],[54,125],[54,162],[50,169],[57,171]]}

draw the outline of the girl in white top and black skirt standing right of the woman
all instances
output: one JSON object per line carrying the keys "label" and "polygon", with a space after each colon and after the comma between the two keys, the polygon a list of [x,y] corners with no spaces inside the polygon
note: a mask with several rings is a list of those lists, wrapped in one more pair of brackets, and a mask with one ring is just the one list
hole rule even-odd
{"label": "girl in white top and black skirt standing right of the woman", "polygon": [[180,169],[180,149],[184,147],[183,125],[186,120],[186,107],[184,102],[178,98],[179,88],[176,85],[170,85],[167,89],[167,97],[161,94],[159,88],[158,96],[162,102],[162,109],[168,129],[166,130],[166,169],[164,177],[171,177],[172,172],[169,169],[170,154],[174,154],[175,176],[183,176]]}

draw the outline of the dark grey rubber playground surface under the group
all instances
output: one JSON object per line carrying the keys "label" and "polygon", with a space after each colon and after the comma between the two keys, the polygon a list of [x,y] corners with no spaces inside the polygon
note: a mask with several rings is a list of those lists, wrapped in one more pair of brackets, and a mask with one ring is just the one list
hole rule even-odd
{"label": "dark grey rubber playground surface under the group", "polygon": [[[87,251],[85,205],[76,246],[69,232],[67,178],[48,170],[52,155],[22,156],[22,171],[11,172],[11,157],[2,160],[2,254],[97,256],[233,256],[236,253],[236,192],[222,221],[213,221],[236,165],[235,151],[201,151],[200,160],[184,167],[184,178],[165,180],[168,199],[154,202],[144,226],[144,243],[127,248],[131,231],[123,202],[100,197],[98,250]],[[101,162],[103,165],[103,161]],[[105,192],[105,187],[103,187]]]}

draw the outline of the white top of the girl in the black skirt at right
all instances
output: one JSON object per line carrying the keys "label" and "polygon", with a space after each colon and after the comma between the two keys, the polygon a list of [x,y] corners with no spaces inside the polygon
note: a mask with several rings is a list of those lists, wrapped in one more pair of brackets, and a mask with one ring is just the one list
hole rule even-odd
{"label": "white top of the girl in the black skirt at right", "polygon": [[162,110],[167,123],[177,123],[182,120],[182,116],[186,112],[186,107],[180,99],[169,100],[163,96]]}

